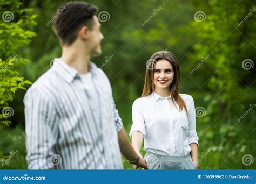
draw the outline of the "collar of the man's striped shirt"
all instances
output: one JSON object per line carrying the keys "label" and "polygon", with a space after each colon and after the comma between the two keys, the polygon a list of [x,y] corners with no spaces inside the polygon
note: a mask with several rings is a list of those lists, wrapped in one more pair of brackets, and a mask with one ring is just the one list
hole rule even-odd
{"label": "collar of the man's striped shirt", "polygon": [[[58,74],[68,83],[71,83],[74,79],[77,79],[80,77],[79,73],[75,68],[69,66],[60,58],[54,59],[52,68],[55,69],[58,72]],[[97,68],[95,63],[90,61],[89,68],[92,75],[95,74],[95,70]]]}

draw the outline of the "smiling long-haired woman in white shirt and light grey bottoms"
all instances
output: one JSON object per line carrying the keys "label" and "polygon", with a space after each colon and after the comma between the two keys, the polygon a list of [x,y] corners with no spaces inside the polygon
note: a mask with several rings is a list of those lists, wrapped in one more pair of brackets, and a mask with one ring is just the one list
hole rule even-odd
{"label": "smiling long-haired woman in white shirt and light grey bottoms", "polygon": [[[147,62],[142,97],[132,105],[132,146],[140,154],[144,138],[149,169],[198,169],[194,101],[179,94],[175,56],[159,51]],[[134,168],[137,168],[134,166]]]}

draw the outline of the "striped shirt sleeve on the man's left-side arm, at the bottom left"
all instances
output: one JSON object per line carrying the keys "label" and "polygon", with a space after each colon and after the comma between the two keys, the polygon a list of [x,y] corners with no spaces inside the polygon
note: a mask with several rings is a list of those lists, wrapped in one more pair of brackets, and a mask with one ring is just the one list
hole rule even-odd
{"label": "striped shirt sleeve on the man's left-side arm, at the bottom left", "polygon": [[51,127],[56,123],[56,110],[38,89],[29,89],[24,97],[26,160],[29,169],[53,169],[51,156],[56,139]]}

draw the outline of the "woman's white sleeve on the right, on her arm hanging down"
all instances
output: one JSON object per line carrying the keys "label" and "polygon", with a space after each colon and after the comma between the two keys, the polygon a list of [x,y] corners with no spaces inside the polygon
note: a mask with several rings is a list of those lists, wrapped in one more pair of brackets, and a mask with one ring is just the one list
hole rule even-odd
{"label": "woman's white sleeve on the right, on her arm hanging down", "polygon": [[196,111],[194,108],[194,100],[191,97],[191,102],[188,109],[188,120],[189,120],[189,130],[188,130],[188,144],[196,143],[198,145],[198,136],[196,131]]}

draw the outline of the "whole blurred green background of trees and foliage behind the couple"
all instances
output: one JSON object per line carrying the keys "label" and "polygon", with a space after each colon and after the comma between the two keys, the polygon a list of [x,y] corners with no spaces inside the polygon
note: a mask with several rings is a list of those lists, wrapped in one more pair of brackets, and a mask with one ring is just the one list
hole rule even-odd
{"label": "whole blurred green background of trees and foliage behind the couple", "polygon": [[[0,24],[0,109],[14,110],[11,117],[0,116],[0,169],[26,169],[25,90],[18,88],[29,88],[24,81],[35,82],[61,55],[51,19],[65,1],[0,2],[1,15],[14,15],[11,21],[2,16]],[[132,103],[142,94],[146,61],[166,49],[179,60],[181,93],[192,95],[197,108],[199,169],[256,168],[256,2],[87,2],[105,13],[103,54],[91,60],[111,81],[127,133]],[[124,158],[123,163],[132,169]]]}

